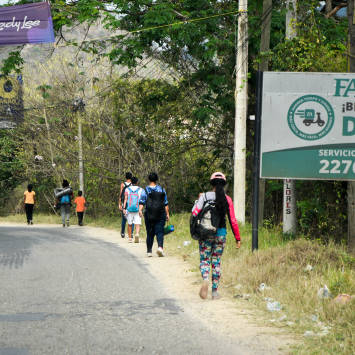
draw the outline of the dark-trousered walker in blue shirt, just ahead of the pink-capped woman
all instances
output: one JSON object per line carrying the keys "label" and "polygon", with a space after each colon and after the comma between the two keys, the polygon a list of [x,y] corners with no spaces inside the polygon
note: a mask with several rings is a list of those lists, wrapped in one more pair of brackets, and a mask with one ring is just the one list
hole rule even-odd
{"label": "dark-trousered walker in blue shirt, just ahead of the pink-capped woman", "polygon": [[[158,242],[157,254],[161,257],[164,256],[164,252],[163,252],[164,225],[165,222],[169,220],[168,198],[166,196],[166,191],[161,186],[156,184],[156,182],[158,181],[157,173],[150,173],[148,180],[149,180],[149,185],[142,191],[141,197],[139,199],[139,216],[141,218],[143,217],[143,207],[147,203],[148,195],[151,193],[153,193],[153,195],[155,196],[158,195],[160,199],[159,208],[154,209],[154,211],[159,211],[158,218],[159,218],[159,213],[161,213],[161,217],[159,218],[158,221],[152,222],[149,220],[149,218],[147,218],[148,216],[146,210],[144,213],[144,222],[145,222],[145,227],[147,229],[147,256],[148,257],[153,256],[152,248],[154,243],[154,236],[157,236],[157,242]],[[163,196],[161,195],[162,193],[164,194],[164,205],[163,205]]]}

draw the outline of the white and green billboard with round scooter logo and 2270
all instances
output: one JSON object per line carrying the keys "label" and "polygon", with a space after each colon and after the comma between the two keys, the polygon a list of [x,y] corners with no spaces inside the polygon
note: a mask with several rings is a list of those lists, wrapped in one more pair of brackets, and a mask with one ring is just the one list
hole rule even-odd
{"label": "white and green billboard with round scooter logo and 2270", "polygon": [[355,74],[265,72],[261,177],[355,180]]}

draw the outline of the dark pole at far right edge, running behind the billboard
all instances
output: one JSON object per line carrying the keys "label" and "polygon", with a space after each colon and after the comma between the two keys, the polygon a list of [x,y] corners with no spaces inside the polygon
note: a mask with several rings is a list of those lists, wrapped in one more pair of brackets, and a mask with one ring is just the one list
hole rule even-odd
{"label": "dark pole at far right edge, running behind the billboard", "polygon": [[[348,71],[355,73],[355,0],[348,0]],[[355,181],[348,181],[348,250],[355,253]]]}

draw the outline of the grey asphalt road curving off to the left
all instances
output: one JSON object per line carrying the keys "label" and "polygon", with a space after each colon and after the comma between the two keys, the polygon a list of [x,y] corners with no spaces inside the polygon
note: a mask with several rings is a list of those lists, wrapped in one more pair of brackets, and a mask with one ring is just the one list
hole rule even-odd
{"label": "grey asphalt road curving off to the left", "polygon": [[244,354],[118,245],[85,228],[0,227],[0,355],[135,353]]}

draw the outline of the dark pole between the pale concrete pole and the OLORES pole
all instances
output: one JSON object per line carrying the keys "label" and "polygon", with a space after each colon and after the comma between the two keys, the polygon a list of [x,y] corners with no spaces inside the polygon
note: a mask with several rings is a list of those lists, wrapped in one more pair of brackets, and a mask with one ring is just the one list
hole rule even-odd
{"label": "dark pole between the pale concrete pole and the OLORES pole", "polygon": [[[271,10],[272,0],[263,1],[263,17],[261,25],[260,53],[270,50],[270,32],[271,32]],[[259,64],[259,71],[269,70],[269,60],[263,59]],[[255,154],[255,153],[254,153]],[[264,223],[264,206],[265,206],[265,179],[259,179],[259,213],[258,225],[263,226]]]}

